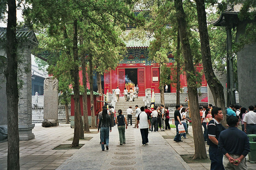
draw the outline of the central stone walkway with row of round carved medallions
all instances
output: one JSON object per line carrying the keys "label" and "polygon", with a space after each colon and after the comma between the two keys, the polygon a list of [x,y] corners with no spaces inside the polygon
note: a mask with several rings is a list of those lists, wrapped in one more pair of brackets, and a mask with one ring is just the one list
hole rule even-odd
{"label": "central stone walkway with row of round carved medallions", "polygon": [[160,133],[150,132],[146,146],[142,146],[139,129],[128,126],[125,136],[126,144],[120,146],[117,127],[113,127],[109,150],[102,151],[98,134],[57,169],[190,169]]}

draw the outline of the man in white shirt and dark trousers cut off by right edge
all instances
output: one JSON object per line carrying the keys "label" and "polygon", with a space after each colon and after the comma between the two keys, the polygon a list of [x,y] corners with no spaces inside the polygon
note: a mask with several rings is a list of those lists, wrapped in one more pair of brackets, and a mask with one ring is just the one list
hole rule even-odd
{"label": "man in white shirt and dark trousers cut off by right edge", "polygon": [[256,113],[254,107],[249,106],[249,112],[244,115],[244,132],[247,135],[256,134]]}

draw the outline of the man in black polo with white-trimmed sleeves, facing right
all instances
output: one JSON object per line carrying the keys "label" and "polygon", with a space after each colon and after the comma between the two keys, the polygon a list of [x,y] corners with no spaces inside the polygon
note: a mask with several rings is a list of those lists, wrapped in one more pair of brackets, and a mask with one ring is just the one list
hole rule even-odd
{"label": "man in black polo with white-trimmed sleeves, facing right", "polygon": [[207,126],[207,144],[209,145],[209,157],[211,159],[211,170],[224,170],[222,165],[223,154],[218,150],[220,132],[225,130],[220,121],[223,119],[221,108],[212,109],[212,120]]}

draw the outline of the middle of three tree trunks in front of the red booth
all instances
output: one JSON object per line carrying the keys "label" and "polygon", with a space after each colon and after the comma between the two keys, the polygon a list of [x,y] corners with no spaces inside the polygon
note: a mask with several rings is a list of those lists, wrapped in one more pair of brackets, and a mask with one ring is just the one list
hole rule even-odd
{"label": "middle of three tree trunks in front of the red booth", "polygon": [[[80,35],[80,45],[83,46],[84,44],[84,37],[81,33]],[[84,111],[84,132],[89,133],[89,120],[88,120],[88,107],[87,107],[87,77],[86,77],[86,65],[85,62],[85,53],[82,52],[82,76],[83,76],[83,85],[84,85],[84,93],[83,93],[83,111]]]}

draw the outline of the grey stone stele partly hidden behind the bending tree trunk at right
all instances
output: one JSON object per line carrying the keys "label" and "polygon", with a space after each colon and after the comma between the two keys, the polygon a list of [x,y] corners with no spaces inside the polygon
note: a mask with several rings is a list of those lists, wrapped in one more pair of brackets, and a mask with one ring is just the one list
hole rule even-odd
{"label": "grey stone stele partly hidden behind the bending tree trunk at right", "polygon": [[[224,98],[225,98],[225,101],[226,101],[227,100],[227,87],[226,87],[227,73],[226,73],[226,70],[219,71],[217,69],[214,69],[213,72],[214,72],[216,78],[218,78],[221,85],[223,86]],[[208,97],[208,104],[212,104],[214,106],[215,103],[214,103],[214,100],[213,100],[212,92],[211,92],[211,90],[208,86],[208,83],[207,83],[207,97]]]}

